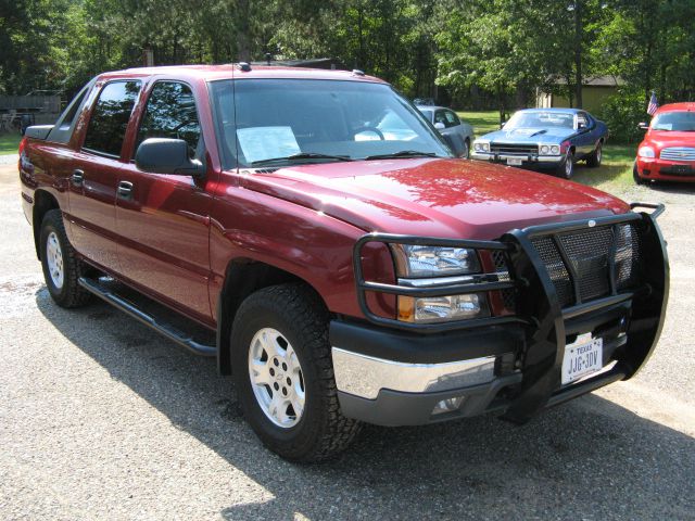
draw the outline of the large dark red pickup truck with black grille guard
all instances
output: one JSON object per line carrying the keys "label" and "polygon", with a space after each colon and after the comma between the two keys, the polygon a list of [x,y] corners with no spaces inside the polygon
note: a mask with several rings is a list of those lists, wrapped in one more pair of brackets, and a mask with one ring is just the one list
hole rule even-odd
{"label": "large dark red pickup truck with black grille guard", "polygon": [[527,421],[631,378],[664,322],[661,205],[455,158],[359,71],[102,74],[27,129],[20,177],[55,303],[215,356],[291,460],[362,422]]}

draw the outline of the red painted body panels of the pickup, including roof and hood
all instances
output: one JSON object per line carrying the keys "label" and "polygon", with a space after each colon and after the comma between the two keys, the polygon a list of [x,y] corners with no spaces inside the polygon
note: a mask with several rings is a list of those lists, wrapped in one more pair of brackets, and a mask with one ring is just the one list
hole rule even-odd
{"label": "red painted body panels of the pickup, including roof and hood", "polygon": [[[156,76],[154,76],[156,75]],[[465,160],[410,158],[328,163],[273,174],[223,171],[206,81],[271,77],[379,81],[346,72],[231,66],[162,67],[104,74],[67,144],[28,139],[21,168],[27,218],[36,191],[52,194],[76,250],[92,264],[210,327],[231,262],[263,262],[305,280],[334,313],[361,316],[352,251],[368,231],[496,239],[513,228],[629,209],[622,201],[527,170]],[[138,78],[142,90],[119,157],[81,150],[98,89]],[[141,112],[159,79],[189,84],[207,148],[204,180],[140,171],[131,162]],[[75,187],[75,168],[85,183]],[[132,198],[116,196],[119,181]],[[365,251],[365,275],[392,282],[383,245]],[[390,297],[370,297],[391,315]]]}

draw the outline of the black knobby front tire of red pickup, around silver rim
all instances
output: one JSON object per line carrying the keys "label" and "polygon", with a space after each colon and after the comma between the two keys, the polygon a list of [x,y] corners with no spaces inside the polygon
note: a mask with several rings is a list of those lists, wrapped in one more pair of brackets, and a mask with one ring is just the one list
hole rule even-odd
{"label": "black knobby front tire of red pickup, around silver rim", "polygon": [[[348,447],[361,423],[345,418],[338,403],[328,341],[329,314],[305,284],[274,285],[251,294],[235,317],[230,347],[239,402],[247,421],[270,450],[298,462],[331,458]],[[287,338],[302,366],[305,406],[291,428],[274,424],[254,396],[249,350],[254,334],[274,328]]]}

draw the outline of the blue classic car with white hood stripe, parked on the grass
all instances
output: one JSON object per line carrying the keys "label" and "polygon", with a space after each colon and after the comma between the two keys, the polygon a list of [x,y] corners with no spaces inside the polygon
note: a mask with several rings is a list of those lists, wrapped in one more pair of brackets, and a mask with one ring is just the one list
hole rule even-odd
{"label": "blue classic car with white hood stripe, parked on the grass", "polygon": [[569,179],[574,164],[601,165],[608,128],[578,109],[526,109],[517,111],[501,130],[473,142],[473,160],[511,166],[553,169]]}

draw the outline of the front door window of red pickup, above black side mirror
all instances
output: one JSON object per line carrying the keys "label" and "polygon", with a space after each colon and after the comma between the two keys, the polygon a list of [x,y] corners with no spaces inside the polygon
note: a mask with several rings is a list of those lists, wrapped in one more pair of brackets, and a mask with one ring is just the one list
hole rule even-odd
{"label": "front door window of red pickup, above black side mirror", "polygon": [[148,100],[135,150],[148,138],[182,139],[191,157],[200,158],[203,147],[195,100],[190,87],[177,81],[159,81]]}

